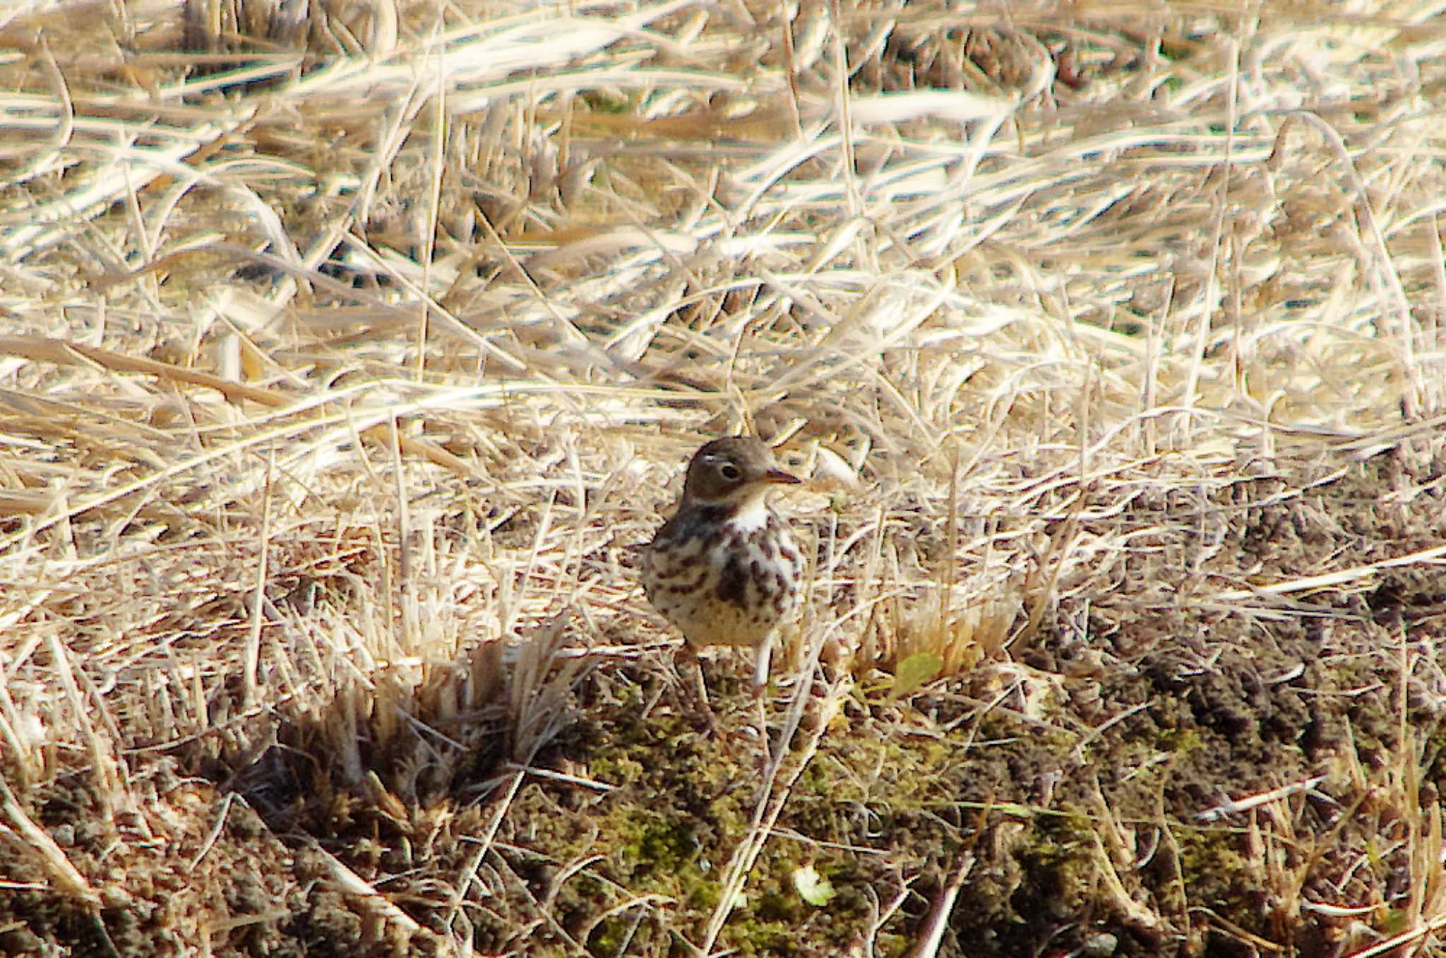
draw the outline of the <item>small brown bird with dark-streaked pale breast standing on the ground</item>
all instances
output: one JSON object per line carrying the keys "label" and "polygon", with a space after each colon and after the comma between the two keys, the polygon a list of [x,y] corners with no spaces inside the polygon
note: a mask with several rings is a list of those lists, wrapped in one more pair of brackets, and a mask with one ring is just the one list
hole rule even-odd
{"label": "small brown bird with dark-streaked pale breast standing on the ground", "polygon": [[[768,682],[774,631],[798,604],[803,553],[788,523],[768,507],[772,486],[798,483],[759,439],[713,439],[693,455],[683,499],[643,553],[648,601],[700,646],[756,649],[753,691]],[[711,720],[694,660],[700,708]]]}

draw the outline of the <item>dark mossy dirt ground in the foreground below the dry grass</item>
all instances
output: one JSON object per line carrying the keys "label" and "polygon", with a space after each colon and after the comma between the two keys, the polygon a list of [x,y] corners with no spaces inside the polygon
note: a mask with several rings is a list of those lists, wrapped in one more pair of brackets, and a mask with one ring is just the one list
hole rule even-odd
{"label": "dark mossy dirt ground in the foreground below the dry grass", "polygon": [[[1309,475],[1145,490],[1111,519],[1142,536],[1139,559],[1109,588],[1061,584],[1028,642],[894,701],[860,676],[823,725],[816,689],[791,759],[816,748],[719,946],[902,955],[931,919],[938,954],[970,957],[1375,944],[1382,912],[1442,894],[1446,594],[1437,565],[1392,561],[1446,545],[1443,475],[1432,438]],[[1348,574],[1270,588],[1329,572]],[[98,897],[46,889],[4,842],[0,949],[356,957],[464,935],[480,954],[688,954],[755,815],[762,751],[740,668],[710,663],[717,735],[671,676],[665,653],[590,663],[541,774],[503,761],[505,720],[470,717],[470,757],[425,808],[340,786],[299,721],[220,759],[130,753],[116,793],[150,796],[139,806],[107,805],[94,770],[35,790],[12,776]],[[775,735],[787,698],[769,704]],[[380,782],[422,774],[367,761]],[[348,893],[347,870],[385,897]],[[814,873],[821,905],[795,886]]]}

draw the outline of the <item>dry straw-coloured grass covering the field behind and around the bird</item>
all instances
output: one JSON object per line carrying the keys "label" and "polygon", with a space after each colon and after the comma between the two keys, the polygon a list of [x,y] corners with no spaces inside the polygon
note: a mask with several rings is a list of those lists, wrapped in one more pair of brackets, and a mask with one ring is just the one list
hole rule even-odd
{"label": "dry straw-coloured grass covering the field behind and around the bird", "polygon": [[[1439,540],[1265,578],[1213,564],[1235,490],[1304,501],[1440,448],[1434,7],[286,9],[0,13],[0,754],[36,900],[100,925],[101,902],[143,896],[46,832],[56,783],[94,796],[123,855],[184,845],[176,780],[204,779],[292,845],[360,806],[466,832],[401,910],[386,868],[333,847],[321,871],[375,903],[375,941],[470,948],[525,785],[619,785],[542,756],[594,672],[671,681],[630,549],[729,431],[813,477],[788,501],[818,553],[784,663],[818,688],[790,686],[774,718],[795,748],[716,863],[727,894],[680,931],[704,951],[818,748],[882,734],[837,717],[850,696],[884,688],[897,715],[950,679],[976,717],[1083,754],[1109,724],[1048,705],[1109,666],[1027,662],[1089,646],[1095,597],[1271,623],[1387,569],[1439,577]],[[1325,954],[1306,926],[1359,955],[1439,949],[1420,779],[1440,743],[1406,720],[1407,691],[1446,696],[1440,617],[1426,629],[1353,650],[1398,673],[1401,727],[1375,767],[1320,770],[1372,796],[1355,811],[1408,881],[1366,880],[1379,848],[1340,864],[1330,834],[1297,834],[1304,786],[1225,808],[1259,850],[1271,936],[1184,892],[1142,900],[1144,827],[1102,798],[1119,922],[1189,949]],[[230,806],[200,808],[205,832]],[[969,894],[964,851],[899,932],[915,954]],[[860,954],[889,951],[905,887]],[[590,928],[671,907],[615,892]],[[234,946],[240,925],[178,902],[176,949]],[[560,954],[593,948],[548,922]]]}

